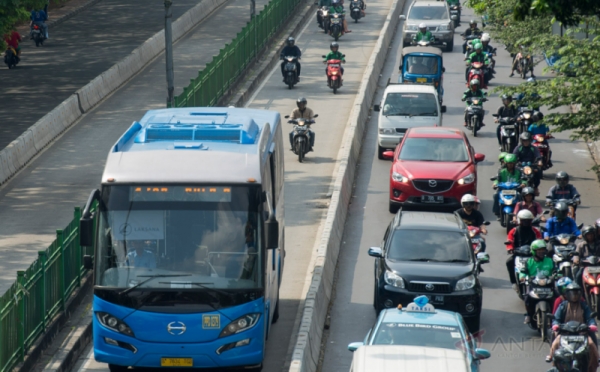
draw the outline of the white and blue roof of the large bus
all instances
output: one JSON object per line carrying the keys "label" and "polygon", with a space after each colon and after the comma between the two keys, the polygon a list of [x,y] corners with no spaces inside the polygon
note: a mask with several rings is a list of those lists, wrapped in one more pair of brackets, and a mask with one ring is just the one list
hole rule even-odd
{"label": "white and blue roof of the large bus", "polygon": [[275,111],[151,110],[111,148],[102,183],[260,183],[278,125]]}

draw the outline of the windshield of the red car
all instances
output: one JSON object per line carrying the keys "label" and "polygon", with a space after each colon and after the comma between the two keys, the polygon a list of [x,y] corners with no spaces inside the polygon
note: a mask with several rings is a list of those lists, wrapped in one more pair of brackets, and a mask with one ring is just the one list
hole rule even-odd
{"label": "windshield of the red car", "polygon": [[467,162],[467,146],[459,138],[415,138],[409,137],[402,143],[400,160]]}

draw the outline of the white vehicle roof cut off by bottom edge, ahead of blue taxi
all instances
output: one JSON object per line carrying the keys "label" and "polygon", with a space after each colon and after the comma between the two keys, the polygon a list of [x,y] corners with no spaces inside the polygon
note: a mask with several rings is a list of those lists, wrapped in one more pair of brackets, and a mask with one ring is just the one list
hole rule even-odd
{"label": "white vehicle roof cut off by bottom edge, ahead of blue taxi", "polygon": [[460,350],[395,345],[361,346],[353,354],[350,372],[467,372]]}

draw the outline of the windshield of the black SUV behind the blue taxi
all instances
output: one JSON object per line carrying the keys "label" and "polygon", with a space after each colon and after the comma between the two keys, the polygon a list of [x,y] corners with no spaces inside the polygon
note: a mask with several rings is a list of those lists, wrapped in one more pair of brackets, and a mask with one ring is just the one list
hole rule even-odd
{"label": "windshield of the black SUV behind the blue taxi", "polygon": [[398,229],[387,248],[392,261],[471,262],[471,247],[459,231]]}

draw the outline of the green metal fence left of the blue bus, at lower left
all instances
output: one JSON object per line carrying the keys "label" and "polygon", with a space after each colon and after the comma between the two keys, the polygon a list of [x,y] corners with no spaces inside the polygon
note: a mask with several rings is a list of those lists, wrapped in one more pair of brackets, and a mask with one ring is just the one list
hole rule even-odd
{"label": "green metal fence left of the blue bus, at lower left", "polygon": [[17,281],[0,297],[0,372],[23,361],[79,287],[86,273],[83,255],[92,254],[91,247],[79,245],[80,217],[77,207],[69,225],[56,231],[56,240],[27,270],[17,271]]}

